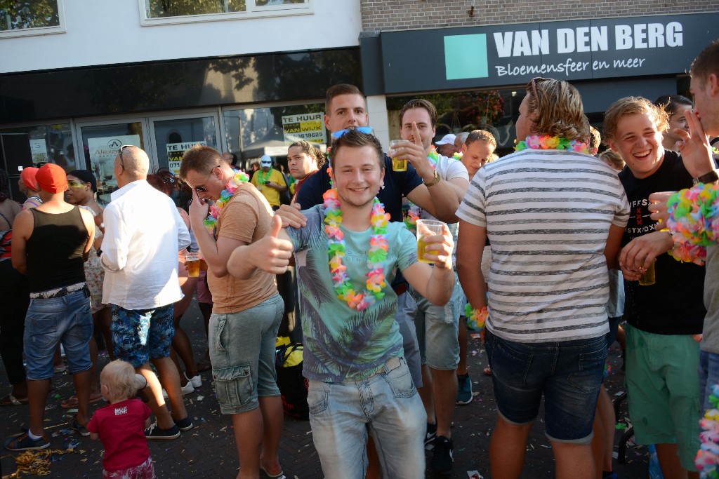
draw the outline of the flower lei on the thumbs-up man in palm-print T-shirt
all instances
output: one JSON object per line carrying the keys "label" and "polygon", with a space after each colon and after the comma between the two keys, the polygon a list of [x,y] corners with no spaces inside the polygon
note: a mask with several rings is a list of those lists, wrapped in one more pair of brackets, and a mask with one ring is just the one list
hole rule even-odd
{"label": "flower lei on the thumbs-up man in palm-print T-shirt", "polygon": [[[330,172],[331,174],[331,172]],[[387,224],[390,215],[385,213],[385,205],[375,197],[372,205],[372,236],[370,237],[370,251],[367,254],[367,282],[365,291],[357,293],[347,276],[347,266],[342,264],[342,256],[347,243],[344,241],[344,233],[339,229],[342,225],[342,210],[339,208],[339,197],[337,190],[332,188],[322,195],[324,198],[324,231],[327,235],[327,254],[329,256],[329,271],[332,274],[334,292],[337,298],[353,310],[363,311],[375,304],[377,299],[382,299],[385,293],[382,289],[387,286],[385,282],[384,262],[387,259],[389,243],[387,241]]]}

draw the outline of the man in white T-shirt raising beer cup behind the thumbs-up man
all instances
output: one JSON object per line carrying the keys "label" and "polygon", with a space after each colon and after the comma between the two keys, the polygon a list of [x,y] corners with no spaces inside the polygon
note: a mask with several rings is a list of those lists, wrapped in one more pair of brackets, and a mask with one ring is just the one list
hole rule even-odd
{"label": "man in white T-shirt raising beer cup behind the thumbs-up man", "polygon": [[[416,142],[421,138],[423,149],[407,150],[408,159],[422,177],[434,170],[434,181],[425,183],[434,187],[444,182],[449,187],[449,195],[462,200],[469,187],[469,174],[462,162],[438,154],[431,149],[435,134],[437,111],[426,100],[411,100],[400,111],[400,135],[402,139]],[[447,139],[452,136],[452,139]],[[454,135],[446,135],[442,140],[449,141],[454,147]],[[438,143],[439,144],[439,143]],[[454,150],[452,150],[454,152]],[[412,209],[417,208],[411,206]],[[420,218],[434,220],[434,216],[421,211]],[[457,239],[457,223],[449,224],[449,231]],[[422,383],[419,394],[427,412],[426,442],[434,444],[434,453],[429,463],[436,473],[452,472],[452,433],[449,430],[457,399],[457,364],[459,363],[459,314],[464,307],[464,294],[459,287],[455,274],[452,299],[445,306],[436,306],[418,292],[411,289],[417,302],[415,326],[422,358]]]}

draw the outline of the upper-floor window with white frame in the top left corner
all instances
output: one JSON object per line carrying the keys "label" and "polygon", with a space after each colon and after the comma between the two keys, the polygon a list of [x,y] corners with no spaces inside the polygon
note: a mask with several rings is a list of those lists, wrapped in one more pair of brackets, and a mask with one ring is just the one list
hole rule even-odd
{"label": "upper-floor window with white frame in the top left corner", "polygon": [[0,1],[0,38],[63,32],[62,0]]}

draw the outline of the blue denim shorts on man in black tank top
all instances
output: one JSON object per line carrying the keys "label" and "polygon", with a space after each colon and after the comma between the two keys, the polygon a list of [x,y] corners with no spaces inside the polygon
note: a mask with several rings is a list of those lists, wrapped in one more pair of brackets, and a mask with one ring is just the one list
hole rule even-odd
{"label": "blue denim shorts on man in black tank top", "polygon": [[90,295],[85,289],[59,298],[33,298],[25,316],[24,351],[27,378],[49,379],[54,376],[52,355],[63,344],[70,373],[92,367],[90,338],[93,323]]}

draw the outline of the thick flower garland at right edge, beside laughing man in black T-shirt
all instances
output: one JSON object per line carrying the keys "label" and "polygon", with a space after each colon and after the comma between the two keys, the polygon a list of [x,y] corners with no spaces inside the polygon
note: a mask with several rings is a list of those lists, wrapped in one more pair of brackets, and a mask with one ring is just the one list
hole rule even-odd
{"label": "thick flower garland at right edge, beside laughing man in black T-shirt", "polygon": [[669,254],[677,261],[702,265],[705,246],[719,241],[718,195],[718,185],[700,183],[669,197],[667,228],[674,239]]}

